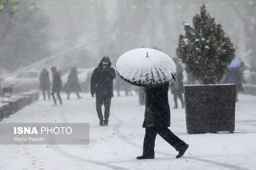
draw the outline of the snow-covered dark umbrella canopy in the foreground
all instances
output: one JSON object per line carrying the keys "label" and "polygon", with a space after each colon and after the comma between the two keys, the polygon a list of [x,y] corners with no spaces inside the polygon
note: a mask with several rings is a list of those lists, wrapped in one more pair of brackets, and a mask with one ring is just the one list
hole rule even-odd
{"label": "snow-covered dark umbrella canopy in the foreground", "polygon": [[161,51],[148,48],[130,50],[119,57],[116,72],[136,86],[156,87],[168,83],[176,74],[176,65]]}

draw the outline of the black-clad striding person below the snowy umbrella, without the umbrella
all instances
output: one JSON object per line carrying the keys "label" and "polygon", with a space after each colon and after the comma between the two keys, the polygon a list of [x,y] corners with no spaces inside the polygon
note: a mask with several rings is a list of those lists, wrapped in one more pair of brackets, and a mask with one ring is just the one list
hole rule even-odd
{"label": "black-clad striding person below the snowy umbrella, without the umbrella", "polygon": [[142,156],[138,156],[137,159],[154,159],[157,134],[179,151],[176,158],[180,158],[188,149],[188,144],[168,129],[170,127],[168,90],[168,83],[162,86],[143,88],[143,91],[146,92],[146,108],[142,127],[146,128],[146,134],[143,143],[143,154]]}

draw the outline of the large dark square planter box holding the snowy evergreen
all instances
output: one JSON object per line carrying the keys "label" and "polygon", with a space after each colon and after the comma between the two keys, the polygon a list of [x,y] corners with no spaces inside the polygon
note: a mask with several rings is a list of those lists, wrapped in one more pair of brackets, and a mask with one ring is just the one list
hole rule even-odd
{"label": "large dark square planter box holding the snowy evergreen", "polygon": [[236,85],[184,86],[188,134],[235,130]]}

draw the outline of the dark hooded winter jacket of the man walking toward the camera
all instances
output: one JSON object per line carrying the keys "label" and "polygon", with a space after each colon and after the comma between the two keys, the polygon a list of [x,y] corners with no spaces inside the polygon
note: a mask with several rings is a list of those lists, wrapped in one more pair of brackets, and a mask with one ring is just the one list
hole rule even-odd
{"label": "dark hooded winter jacket of the man walking toward the camera", "polygon": [[[102,62],[107,62],[108,66],[103,70]],[[103,57],[102,61],[92,73],[91,94],[97,96],[113,97],[113,79],[116,78],[115,69],[110,67],[111,62],[108,57]]]}

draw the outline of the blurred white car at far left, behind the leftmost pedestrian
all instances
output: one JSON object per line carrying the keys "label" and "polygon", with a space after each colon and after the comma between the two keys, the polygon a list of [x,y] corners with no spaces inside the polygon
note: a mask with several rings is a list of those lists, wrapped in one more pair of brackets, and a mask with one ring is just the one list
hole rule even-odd
{"label": "blurred white car at far left, behind the leftmost pedestrian", "polygon": [[3,87],[12,87],[13,92],[26,92],[39,89],[39,70],[25,70],[2,80]]}

